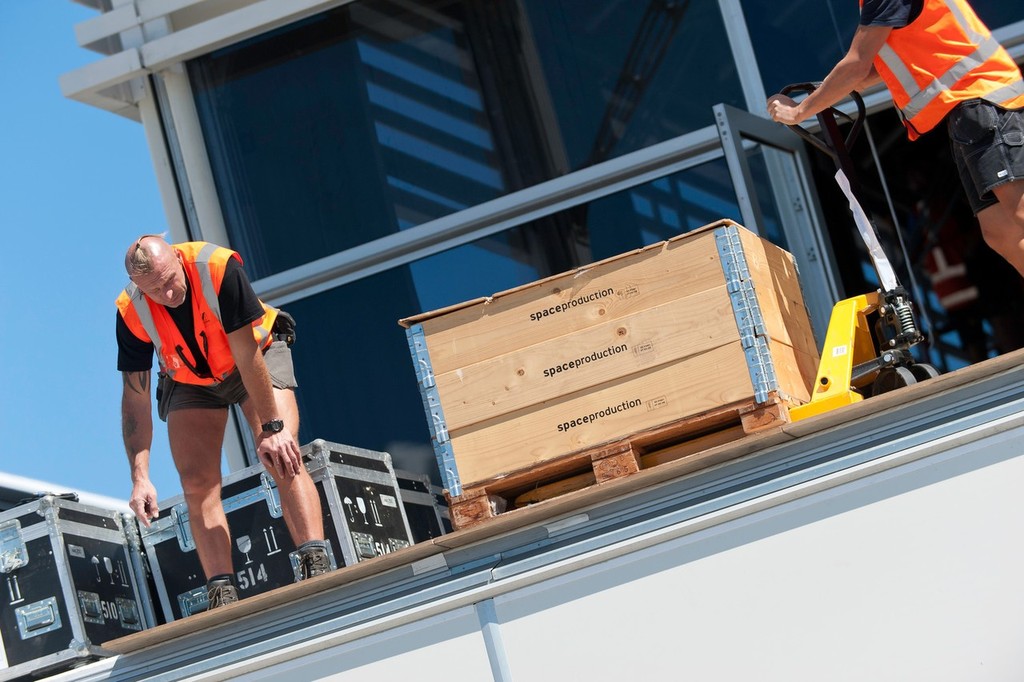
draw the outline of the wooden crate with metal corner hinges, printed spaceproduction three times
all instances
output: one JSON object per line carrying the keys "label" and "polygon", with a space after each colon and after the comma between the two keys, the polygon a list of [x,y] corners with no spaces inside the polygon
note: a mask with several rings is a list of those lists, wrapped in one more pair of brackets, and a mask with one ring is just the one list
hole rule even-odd
{"label": "wooden crate with metal corner hinges, printed spaceproduction three times", "polygon": [[454,497],[723,407],[784,421],[818,364],[793,257],[729,220],[399,324]]}

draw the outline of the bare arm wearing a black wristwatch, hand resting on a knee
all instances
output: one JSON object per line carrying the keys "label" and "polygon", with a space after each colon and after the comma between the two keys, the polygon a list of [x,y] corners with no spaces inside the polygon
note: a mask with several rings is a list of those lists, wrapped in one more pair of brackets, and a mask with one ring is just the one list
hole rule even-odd
{"label": "bare arm wearing a black wristwatch, hand resting on a knee", "polygon": [[[256,345],[251,327],[243,327],[227,335],[231,346],[231,355],[242,375],[242,383],[246,386],[249,399],[257,414],[256,426],[281,419],[278,401],[273,395],[273,384],[270,374],[263,361],[263,352]],[[255,429],[254,429],[255,430]],[[275,468],[282,476],[294,476],[302,467],[302,455],[299,443],[288,427],[279,433],[257,431],[256,454],[267,469]]]}

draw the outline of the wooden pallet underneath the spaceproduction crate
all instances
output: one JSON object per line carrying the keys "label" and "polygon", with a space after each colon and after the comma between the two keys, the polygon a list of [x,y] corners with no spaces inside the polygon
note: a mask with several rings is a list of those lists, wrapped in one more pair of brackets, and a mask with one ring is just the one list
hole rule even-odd
{"label": "wooden pallet underneath the spaceproduction crate", "polygon": [[790,423],[790,407],[773,392],[764,403],[724,406],[468,486],[459,496],[445,492],[452,526],[468,528],[514,509],[777,428]]}

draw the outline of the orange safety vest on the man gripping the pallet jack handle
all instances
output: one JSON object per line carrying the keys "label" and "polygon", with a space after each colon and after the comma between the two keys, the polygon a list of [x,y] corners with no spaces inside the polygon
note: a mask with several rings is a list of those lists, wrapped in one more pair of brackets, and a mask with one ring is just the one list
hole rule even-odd
{"label": "orange safety vest on the man gripping the pallet jack handle", "polygon": [[967,99],[1024,106],[1020,69],[965,0],[925,0],[915,19],[889,34],[874,69],[910,139]]}

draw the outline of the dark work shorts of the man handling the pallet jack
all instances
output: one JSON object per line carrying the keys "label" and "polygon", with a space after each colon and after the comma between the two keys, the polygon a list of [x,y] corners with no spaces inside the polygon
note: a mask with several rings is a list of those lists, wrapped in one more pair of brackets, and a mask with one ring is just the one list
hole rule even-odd
{"label": "dark work shorts of the man handling the pallet jack", "polygon": [[1024,179],[1024,110],[963,101],[946,126],[956,169],[975,215],[997,203],[992,188]]}

